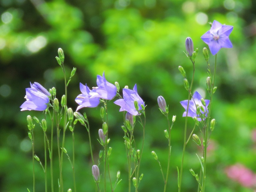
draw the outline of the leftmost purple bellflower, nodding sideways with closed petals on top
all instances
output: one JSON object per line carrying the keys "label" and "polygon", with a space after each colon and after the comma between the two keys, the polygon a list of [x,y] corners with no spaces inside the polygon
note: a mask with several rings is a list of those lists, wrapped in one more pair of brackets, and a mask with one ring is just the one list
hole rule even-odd
{"label": "leftmost purple bellflower, nodding sideways with closed petals on top", "polygon": [[31,88],[26,88],[26,101],[20,106],[21,111],[36,110],[44,111],[49,103],[51,95],[42,85],[37,82],[30,83]]}

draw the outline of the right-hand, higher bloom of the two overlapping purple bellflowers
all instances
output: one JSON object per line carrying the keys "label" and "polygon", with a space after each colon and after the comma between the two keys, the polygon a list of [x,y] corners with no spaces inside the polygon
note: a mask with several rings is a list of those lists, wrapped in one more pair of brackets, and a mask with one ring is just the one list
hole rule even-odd
{"label": "right-hand, higher bloom of the two overlapping purple bellflowers", "polygon": [[91,98],[111,100],[116,96],[116,86],[106,80],[105,72],[103,72],[102,76],[97,75],[97,86],[90,92]]}

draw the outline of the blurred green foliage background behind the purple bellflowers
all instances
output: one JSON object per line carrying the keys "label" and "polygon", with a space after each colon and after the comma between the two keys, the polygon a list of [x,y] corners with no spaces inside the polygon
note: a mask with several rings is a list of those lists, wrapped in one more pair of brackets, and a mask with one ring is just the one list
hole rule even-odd
{"label": "blurred green foliage background behind the purple bellflowers", "polygon": [[[206,190],[253,191],[230,180],[224,170],[239,162],[256,172],[256,142],[252,137],[256,126],[255,0],[0,0],[0,15],[0,191],[32,190],[32,151],[26,116],[43,116],[41,112],[20,112],[19,107],[25,101],[25,88],[30,82],[39,82],[47,89],[56,87],[59,99],[64,94],[62,70],[55,59],[59,47],[64,50],[67,73],[77,68],[68,87],[68,106],[73,110],[77,107],[74,99],[80,94],[79,82],[96,86],[96,75],[103,71],[109,82],[117,81],[121,88],[138,85],[138,93],[147,105],[141,192],[162,191],[164,186],[159,165],[151,155],[154,150],[166,170],[168,142],[163,131],[168,127],[157,105],[157,97],[164,96],[170,117],[177,116],[172,129],[168,181],[168,191],[177,191],[176,166],[180,167],[184,134],[184,109],[179,102],[187,98],[178,66],[184,67],[190,82],[192,64],[184,54],[185,39],[190,36],[199,49],[193,92],[200,90],[204,95],[208,75],[202,48],[208,46],[200,37],[210,29],[208,22],[213,20],[232,25],[234,30],[230,35],[233,48],[218,53],[218,89],[212,108],[217,125],[211,135]],[[210,55],[212,66],[213,63],[214,57]],[[209,98],[208,94],[205,98]],[[128,177],[120,128],[122,113],[113,101],[108,102],[108,108],[112,180],[120,170],[122,182],[116,192],[125,192]],[[86,112],[90,122],[96,159],[102,149],[96,140],[102,126],[99,111],[100,107],[80,110]],[[191,118],[188,125],[191,131]],[[195,133],[199,135],[198,129]],[[43,160],[43,134],[39,126],[35,134],[36,154]],[[142,134],[139,124],[135,134],[137,138]],[[71,156],[70,136],[68,132],[66,149]],[[94,191],[85,128],[76,126],[75,137],[77,191]],[[196,153],[200,154],[200,150],[191,140],[186,150],[182,191],[197,189],[189,172],[190,168],[199,172]],[[57,158],[54,166],[58,178]],[[103,172],[102,167],[100,171]],[[57,187],[57,179],[54,184]],[[65,190],[72,186],[72,169],[64,159]],[[39,164],[36,191],[44,191],[44,174]]]}

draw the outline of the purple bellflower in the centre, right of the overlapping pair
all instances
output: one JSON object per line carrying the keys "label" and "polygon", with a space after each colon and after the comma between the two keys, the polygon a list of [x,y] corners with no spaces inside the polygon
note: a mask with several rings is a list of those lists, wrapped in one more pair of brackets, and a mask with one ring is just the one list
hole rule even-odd
{"label": "purple bellflower in the centre, right of the overlapping pair", "polygon": [[134,85],[133,90],[123,89],[123,96],[123,99],[118,99],[114,102],[114,104],[121,107],[119,111],[127,111],[134,116],[138,115],[138,111],[134,106],[134,101],[138,102],[139,110],[142,110],[141,105],[145,106],[145,104],[142,98],[138,95],[137,85]]}

